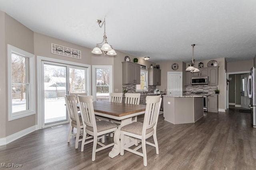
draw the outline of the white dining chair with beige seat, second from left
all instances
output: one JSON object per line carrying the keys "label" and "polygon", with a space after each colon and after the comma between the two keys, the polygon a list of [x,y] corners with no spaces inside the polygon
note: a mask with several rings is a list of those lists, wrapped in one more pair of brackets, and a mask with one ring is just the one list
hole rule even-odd
{"label": "white dining chair with beige seat, second from left", "polygon": [[[82,123],[83,123],[83,126],[85,127],[83,129],[84,136],[82,139],[81,152],[84,151],[84,145],[93,141],[92,161],[94,161],[96,152],[106,149],[108,147],[114,146],[114,142],[110,143],[108,145],[104,145],[103,143],[100,143],[100,141],[98,141],[98,137],[102,137],[107,133],[115,132],[116,129],[118,128],[118,124],[111,123],[109,121],[104,121],[104,120],[96,121],[95,114],[94,114],[94,107],[93,107],[92,102],[93,102],[92,96],[78,95],[78,103],[79,103],[79,107],[81,110]],[[86,140],[85,134],[92,135],[93,140],[85,142],[85,140]],[[101,147],[96,148],[97,144],[100,145]]]}

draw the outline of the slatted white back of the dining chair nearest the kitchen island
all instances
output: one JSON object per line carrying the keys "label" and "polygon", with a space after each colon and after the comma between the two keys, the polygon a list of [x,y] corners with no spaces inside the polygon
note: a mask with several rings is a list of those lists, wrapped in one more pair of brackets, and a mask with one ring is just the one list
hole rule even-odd
{"label": "slatted white back of the dining chair nearest the kitchen island", "polygon": [[146,111],[144,115],[142,134],[146,134],[146,129],[150,129],[152,127],[156,128],[161,102],[161,95],[146,97]]}

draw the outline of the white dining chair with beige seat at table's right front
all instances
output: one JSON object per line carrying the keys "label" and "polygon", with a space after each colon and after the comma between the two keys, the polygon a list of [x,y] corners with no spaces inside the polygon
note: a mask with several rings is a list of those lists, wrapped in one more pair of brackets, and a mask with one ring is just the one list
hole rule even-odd
{"label": "white dining chair with beige seat at table's right front", "polygon": [[[162,98],[159,96],[147,96],[146,97],[146,111],[144,115],[144,121],[142,122],[133,122],[131,124],[125,125],[121,128],[121,149],[120,154],[124,155],[124,150],[137,154],[143,157],[143,164],[147,166],[147,153],[146,153],[146,144],[151,145],[156,148],[156,154],[159,154],[158,142],[156,138],[156,125],[158,121],[158,115],[160,111]],[[141,141],[141,145],[134,149],[130,149],[130,143],[124,145],[124,136],[134,137]],[[149,137],[153,136],[154,143],[146,141]],[[135,145],[135,143],[134,143]],[[142,147],[142,152],[137,150]]]}

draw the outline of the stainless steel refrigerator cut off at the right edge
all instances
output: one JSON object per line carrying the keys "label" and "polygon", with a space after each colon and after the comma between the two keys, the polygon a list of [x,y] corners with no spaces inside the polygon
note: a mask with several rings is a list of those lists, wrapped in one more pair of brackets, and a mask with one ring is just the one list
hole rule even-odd
{"label": "stainless steel refrigerator cut off at the right edge", "polygon": [[251,68],[251,74],[248,77],[247,83],[247,91],[248,96],[250,98],[250,105],[252,113],[251,113],[251,122],[252,126],[256,128],[256,68]]}

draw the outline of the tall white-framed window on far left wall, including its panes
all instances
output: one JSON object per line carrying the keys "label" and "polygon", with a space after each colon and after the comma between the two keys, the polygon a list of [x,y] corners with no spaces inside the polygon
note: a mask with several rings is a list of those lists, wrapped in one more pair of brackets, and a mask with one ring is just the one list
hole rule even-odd
{"label": "tall white-framed window on far left wall, including its panes", "polygon": [[8,120],[35,114],[34,55],[8,44]]}

